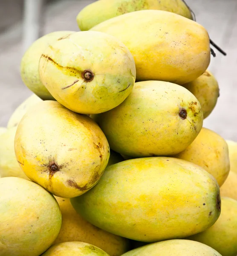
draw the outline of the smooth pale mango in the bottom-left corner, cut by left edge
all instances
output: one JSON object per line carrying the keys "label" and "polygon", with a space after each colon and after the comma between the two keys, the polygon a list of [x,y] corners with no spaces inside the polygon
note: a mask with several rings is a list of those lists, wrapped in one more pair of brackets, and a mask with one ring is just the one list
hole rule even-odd
{"label": "smooth pale mango in the bottom-left corner, cut by left edge", "polygon": [[39,256],[58,236],[61,212],[38,184],[0,178],[0,256]]}

